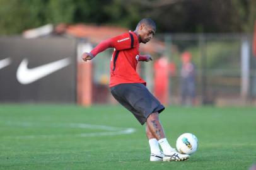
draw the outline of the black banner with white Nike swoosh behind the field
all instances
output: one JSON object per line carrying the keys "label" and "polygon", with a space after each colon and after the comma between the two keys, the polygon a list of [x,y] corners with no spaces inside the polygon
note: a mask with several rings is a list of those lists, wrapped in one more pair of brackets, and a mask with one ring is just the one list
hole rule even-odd
{"label": "black banner with white Nike swoosh behind the field", "polygon": [[0,38],[1,102],[76,102],[76,41]]}

